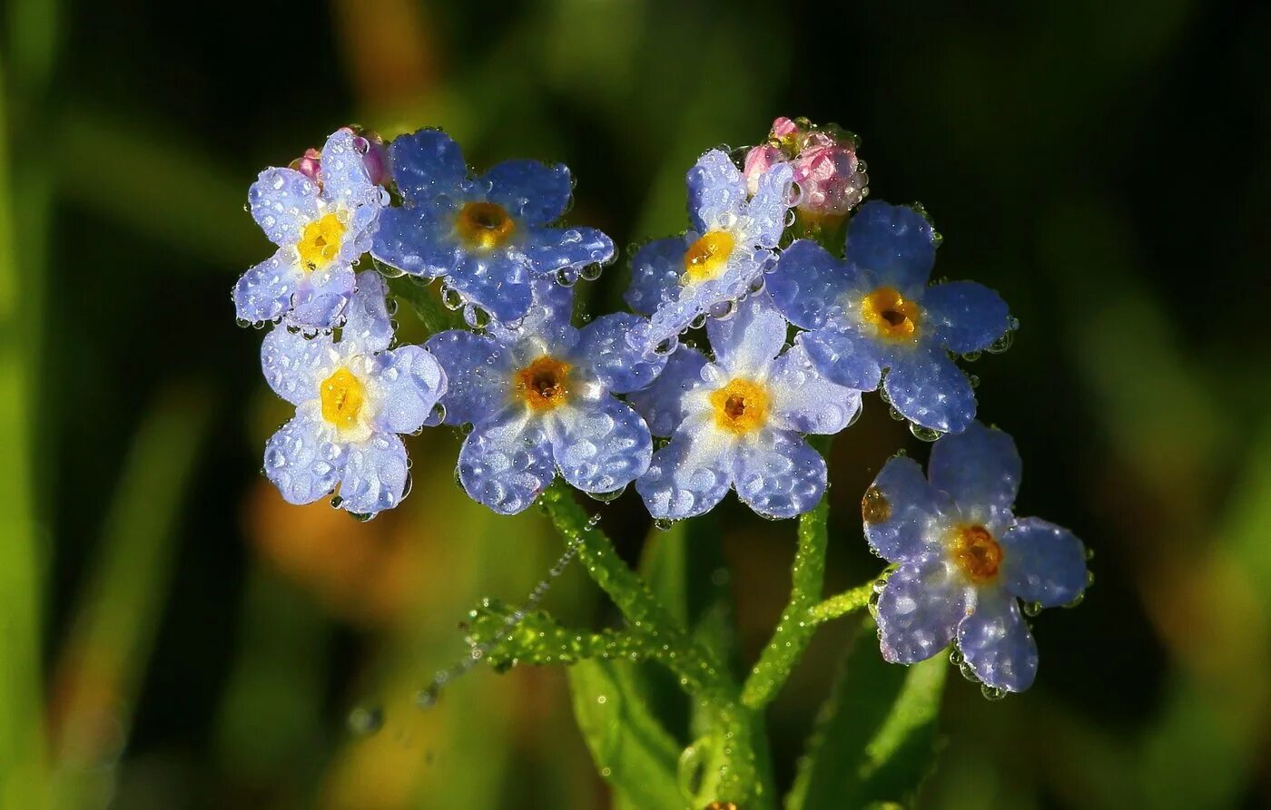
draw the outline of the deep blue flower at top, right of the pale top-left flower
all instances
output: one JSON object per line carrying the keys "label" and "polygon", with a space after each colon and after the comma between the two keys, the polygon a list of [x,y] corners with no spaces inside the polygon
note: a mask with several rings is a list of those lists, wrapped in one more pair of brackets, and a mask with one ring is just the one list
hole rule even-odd
{"label": "deep blue flower at top, right of the pale top-left flower", "polygon": [[472,178],[459,145],[437,129],[403,135],[389,147],[405,204],[388,208],[371,254],[423,278],[445,277],[470,306],[515,321],[531,302],[530,282],[614,258],[592,227],[548,227],[569,207],[563,165],[508,160]]}

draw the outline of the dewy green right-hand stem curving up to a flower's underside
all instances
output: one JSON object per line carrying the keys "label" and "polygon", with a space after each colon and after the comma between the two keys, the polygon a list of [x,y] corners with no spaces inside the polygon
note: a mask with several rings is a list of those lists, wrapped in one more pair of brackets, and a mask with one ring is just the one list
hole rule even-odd
{"label": "dewy green right-hand stem curving up to a flower's underside", "polygon": [[811,512],[799,515],[798,548],[791,568],[791,598],[741,692],[741,702],[750,708],[763,708],[777,697],[812,639],[815,625],[808,621],[807,612],[821,598],[829,519],[830,504],[825,498]]}

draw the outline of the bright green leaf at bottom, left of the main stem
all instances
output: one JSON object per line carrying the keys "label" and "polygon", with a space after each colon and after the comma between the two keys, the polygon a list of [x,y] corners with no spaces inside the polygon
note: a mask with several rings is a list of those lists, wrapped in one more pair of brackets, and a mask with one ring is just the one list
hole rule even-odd
{"label": "bright green leaf at bottom, left of the main stem", "polygon": [[648,711],[633,669],[611,660],[568,669],[578,729],[616,793],[615,806],[685,807],[676,782],[680,747]]}

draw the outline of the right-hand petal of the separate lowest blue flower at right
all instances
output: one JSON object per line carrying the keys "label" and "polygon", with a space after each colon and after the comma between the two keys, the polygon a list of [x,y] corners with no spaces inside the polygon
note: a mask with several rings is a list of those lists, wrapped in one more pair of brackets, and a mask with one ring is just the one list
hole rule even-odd
{"label": "right-hand petal of the separate lowest blue flower at right", "polygon": [[1085,590],[1085,546],[1070,531],[1022,518],[1002,536],[1007,589],[1042,607],[1066,604]]}

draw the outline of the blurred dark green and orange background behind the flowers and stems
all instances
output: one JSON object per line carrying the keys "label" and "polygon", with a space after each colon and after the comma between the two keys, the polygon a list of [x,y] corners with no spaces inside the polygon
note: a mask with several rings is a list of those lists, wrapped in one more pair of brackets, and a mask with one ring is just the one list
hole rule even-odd
{"label": "blurred dark green and orange background behind the flowers and stems", "polygon": [[[289,414],[229,302],[271,250],[247,188],[344,123],[444,126],[479,166],[568,163],[573,220],[628,244],[681,230],[694,157],[778,114],[858,132],[873,197],[944,235],[937,274],[1012,303],[981,415],[1019,443],[1019,510],[1097,551],[1085,603],[1037,621],[1031,692],[949,683],[920,805],[1271,805],[1271,6],[8,0],[0,30],[6,810],[606,807],[562,672],[413,706],[466,609],[559,552],[455,489],[456,434],[411,439],[412,496],[366,524],[259,475]],[[857,500],[897,447],[925,458],[867,397],[831,588],[877,570]],[[595,508],[636,559],[634,496]],[[793,524],[722,519],[752,658]],[[616,621],[577,570],[547,604]],[[769,711],[783,786],[853,632]]]}

